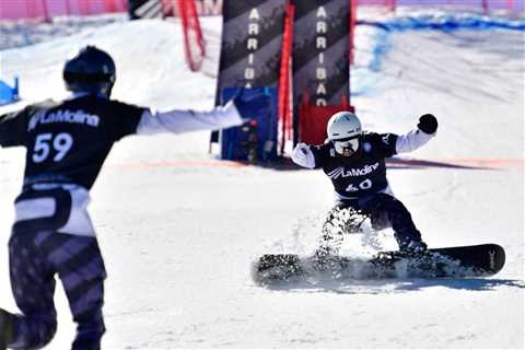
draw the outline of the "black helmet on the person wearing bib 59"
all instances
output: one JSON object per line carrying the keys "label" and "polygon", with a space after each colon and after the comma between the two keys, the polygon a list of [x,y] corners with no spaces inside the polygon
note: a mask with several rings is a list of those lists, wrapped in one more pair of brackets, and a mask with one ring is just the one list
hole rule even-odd
{"label": "black helmet on the person wearing bib 59", "polygon": [[69,91],[90,92],[109,97],[115,78],[113,58],[94,46],[82,48],[63,66],[63,80]]}

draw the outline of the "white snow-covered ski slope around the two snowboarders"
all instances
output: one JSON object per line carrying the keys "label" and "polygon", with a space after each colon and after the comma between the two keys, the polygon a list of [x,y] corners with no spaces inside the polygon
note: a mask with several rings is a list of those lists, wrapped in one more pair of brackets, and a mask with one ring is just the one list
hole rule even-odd
{"label": "white snow-covered ski slope around the two snowboarders", "polygon": [[[203,25],[220,33],[218,19]],[[0,75],[20,77],[22,104],[63,95],[65,59],[94,44],[116,60],[115,98],[159,109],[213,105],[215,81],[187,69],[178,22],[103,19],[66,36],[50,26],[44,35],[1,26],[13,44],[0,50]],[[108,272],[103,349],[523,349],[524,42],[524,31],[510,27],[359,25],[352,70],[352,104],[366,129],[402,133],[424,113],[440,121],[436,138],[388,170],[424,241],[498,243],[506,250],[500,273],[256,285],[250,266],[261,254],[315,248],[334,200],[325,175],[221,162],[208,154],[208,132],[129,137],[92,191]],[[13,312],[7,243],[23,161],[23,150],[0,149],[0,306]],[[349,249],[369,241],[396,247],[386,230],[349,237]],[[74,324],[61,287],[56,300],[48,349],[67,349]]]}

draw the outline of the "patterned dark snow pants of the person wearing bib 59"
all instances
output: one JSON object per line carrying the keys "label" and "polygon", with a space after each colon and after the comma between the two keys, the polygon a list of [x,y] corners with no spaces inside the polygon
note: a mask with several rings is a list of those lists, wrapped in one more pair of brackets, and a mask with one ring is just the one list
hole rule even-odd
{"label": "patterned dark snow pants of the person wearing bib 59", "polygon": [[58,275],[78,324],[72,349],[100,349],[106,271],[96,238],[50,231],[16,233],[9,242],[9,258],[11,287],[22,312],[15,317],[10,348],[39,349],[55,336]]}

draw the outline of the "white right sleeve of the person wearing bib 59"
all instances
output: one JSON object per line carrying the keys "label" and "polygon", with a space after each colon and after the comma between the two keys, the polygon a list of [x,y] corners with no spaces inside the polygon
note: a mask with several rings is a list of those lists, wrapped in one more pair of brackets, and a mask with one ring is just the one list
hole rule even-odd
{"label": "white right sleeve of the person wearing bib 59", "polygon": [[138,135],[218,130],[240,126],[243,119],[233,102],[208,112],[174,109],[161,113],[145,110],[137,127]]}

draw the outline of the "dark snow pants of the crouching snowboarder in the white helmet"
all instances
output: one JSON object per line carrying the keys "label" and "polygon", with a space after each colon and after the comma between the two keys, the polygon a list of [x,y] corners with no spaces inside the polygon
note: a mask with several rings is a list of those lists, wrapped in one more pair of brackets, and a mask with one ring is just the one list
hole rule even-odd
{"label": "dark snow pants of the crouching snowboarder in the white helmet", "polygon": [[[375,194],[355,200],[338,201],[328,213],[324,225],[331,224],[339,215],[339,211],[346,208],[353,208],[370,218],[372,226],[376,230],[392,228],[400,248],[412,241],[421,242],[421,233],[416,228],[410,212],[400,200],[390,195]],[[324,228],[323,232],[328,230]]]}

